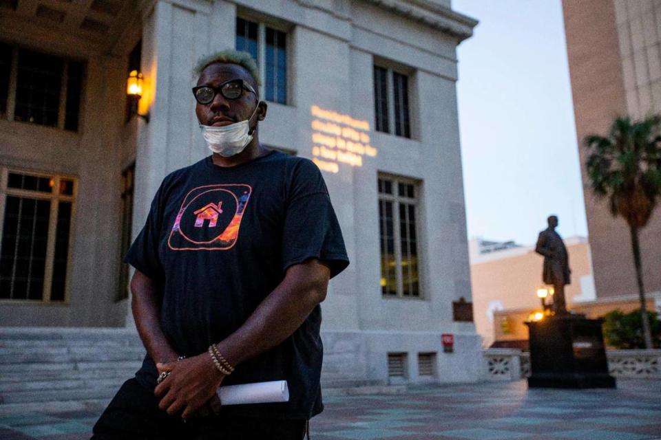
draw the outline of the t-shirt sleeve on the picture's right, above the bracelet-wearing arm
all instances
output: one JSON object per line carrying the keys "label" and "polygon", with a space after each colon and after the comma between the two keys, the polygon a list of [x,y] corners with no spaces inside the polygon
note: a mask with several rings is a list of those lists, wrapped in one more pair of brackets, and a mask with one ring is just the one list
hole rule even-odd
{"label": "t-shirt sleeve on the picture's right, above the bracelet-wearing arm", "polygon": [[328,265],[330,278],[349,264],[322,173],[313,162],[301,159],[288,190],[282,235],[283,270],[308,259],[319,259]]}

